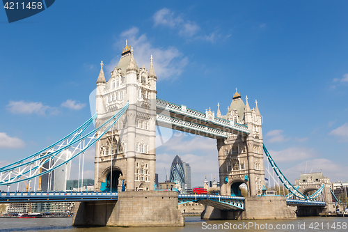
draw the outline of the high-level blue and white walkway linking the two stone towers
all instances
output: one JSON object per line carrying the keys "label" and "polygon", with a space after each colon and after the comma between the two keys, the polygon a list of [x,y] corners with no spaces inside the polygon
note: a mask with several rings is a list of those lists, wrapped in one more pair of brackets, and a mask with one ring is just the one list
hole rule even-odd
{"label": "high-level blue and white walkway linking the two stone towers", "polygon": [[248,127],[223,118],[209,116],[200,111],[156,99],[157,124],[174,130],[200,134],[214,139],[226,138],[228,134],[250,134]]}

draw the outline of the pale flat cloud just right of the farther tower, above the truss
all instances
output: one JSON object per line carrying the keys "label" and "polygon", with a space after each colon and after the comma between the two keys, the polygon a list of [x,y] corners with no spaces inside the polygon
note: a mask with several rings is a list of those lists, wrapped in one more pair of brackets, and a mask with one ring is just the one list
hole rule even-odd
{"label": "pale flat cloud just right of the farther tower, above the truss", "polygon": [[304,160],[315,157],[315,150],[313,148],[287,148],[279,151],[269,150],[269,154],[274,159],[274,162],[277,163]]}

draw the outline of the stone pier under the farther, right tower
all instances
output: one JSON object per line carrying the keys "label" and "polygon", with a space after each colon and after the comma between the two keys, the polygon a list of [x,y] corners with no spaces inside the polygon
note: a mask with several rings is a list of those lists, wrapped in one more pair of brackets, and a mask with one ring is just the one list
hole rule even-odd
{"label": "stone pier under the farther, right tower", "polygon": [[244,211],[219,210],[206,206],[200,215],[201,219],[296,219],[296,213],[286,205],[283,196],[247,196],[244,201]]}

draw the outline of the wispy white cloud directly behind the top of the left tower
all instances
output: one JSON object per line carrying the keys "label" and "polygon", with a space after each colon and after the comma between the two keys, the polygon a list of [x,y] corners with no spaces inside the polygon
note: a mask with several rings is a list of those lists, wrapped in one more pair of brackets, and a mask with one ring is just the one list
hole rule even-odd
{"label": "wispy white cloud directly behind the top of the left tower", "polygon": [[[157,81],[168,77],[177,77],[188,63],[187,56],[184,56],[175,47],[154,47],[145,34],[139,35],[137,27],[123,31],[120,34],[120,40],[116,42],[116,46],[118,48],[124,47],[126,39],[128,44],[134,47],[134,59],[139,67],[145,65],[145,68],[148,69],[150,67],[150,56],[153,56]],[[106,68],[112,71],[119,60],[120,57],[116,56]]]}

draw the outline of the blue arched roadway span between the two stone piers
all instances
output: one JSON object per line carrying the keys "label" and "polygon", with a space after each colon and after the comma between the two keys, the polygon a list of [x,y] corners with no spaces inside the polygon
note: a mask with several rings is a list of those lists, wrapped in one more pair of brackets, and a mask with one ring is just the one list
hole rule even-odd
{"label": "blue arched roadway span between the two stone piers", "polygon": [[177,194],[179,205],[189,202],[199,202],[221,210],[244,210],[243,196],[220,196],[209,194]]}

